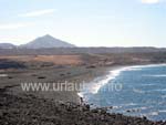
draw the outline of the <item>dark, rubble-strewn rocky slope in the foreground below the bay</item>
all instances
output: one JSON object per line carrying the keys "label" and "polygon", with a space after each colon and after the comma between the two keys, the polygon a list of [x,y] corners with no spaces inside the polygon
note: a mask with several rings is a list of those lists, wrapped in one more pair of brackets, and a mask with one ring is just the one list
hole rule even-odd
{"label": "dark, rubble-strewn rocky slope in the foreground below the bay", "polygon": [[13,95],[0,90],[0,125],[166,125],[146,117],[128,117],[91,110],[90,105],[39,98],[31,94]]}

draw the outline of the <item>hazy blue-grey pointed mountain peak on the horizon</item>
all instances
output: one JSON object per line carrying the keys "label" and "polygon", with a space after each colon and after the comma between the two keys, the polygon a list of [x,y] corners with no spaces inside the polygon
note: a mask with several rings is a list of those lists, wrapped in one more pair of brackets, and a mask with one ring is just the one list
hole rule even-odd
{"label": "hazy blue-grey pointed mountain peak on the horizon", "polygon": [[37,38],[35,40],[27,44],[20,45],[20,48],[27,48],[27,49],[74,48],[74,46],[75,45],[55,39],[49,34],[41,38]]}

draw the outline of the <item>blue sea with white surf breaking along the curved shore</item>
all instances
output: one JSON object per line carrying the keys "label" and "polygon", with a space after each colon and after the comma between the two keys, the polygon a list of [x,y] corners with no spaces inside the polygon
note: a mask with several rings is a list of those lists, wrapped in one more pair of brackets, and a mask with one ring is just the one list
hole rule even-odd
{"label": "blue sea with white surf breaking along the curved shore", "polygon": [[166,65],[120,67],[82,94],[94,107],[113,106],[111,113],[166,121]]}

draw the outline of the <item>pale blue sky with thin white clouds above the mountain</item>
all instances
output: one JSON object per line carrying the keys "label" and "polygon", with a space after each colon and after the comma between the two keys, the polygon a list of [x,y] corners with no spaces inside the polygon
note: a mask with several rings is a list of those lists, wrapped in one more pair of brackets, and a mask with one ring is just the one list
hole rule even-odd
{"label": "pale blue sky with thin white clouds above the mountain", "polygon": [[0,0],[0,43],[166,48],[166,0]]}

